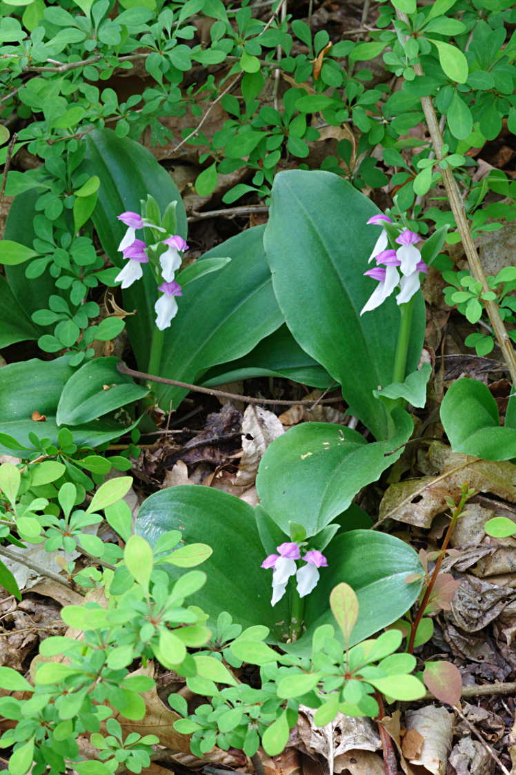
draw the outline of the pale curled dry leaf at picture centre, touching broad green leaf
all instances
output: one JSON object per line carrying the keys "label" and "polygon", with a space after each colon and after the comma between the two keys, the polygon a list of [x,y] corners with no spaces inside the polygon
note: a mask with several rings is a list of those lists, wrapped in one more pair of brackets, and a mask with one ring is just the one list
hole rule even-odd
{"label": "pale curled dry leaf at picture centre, touching broad green leaf", "polygon": [[249,405],[242,420],[242,458],[235,484],[248,488],[254,484],[256,471],[269,444],[284,433],[283,425],[273,412]]}

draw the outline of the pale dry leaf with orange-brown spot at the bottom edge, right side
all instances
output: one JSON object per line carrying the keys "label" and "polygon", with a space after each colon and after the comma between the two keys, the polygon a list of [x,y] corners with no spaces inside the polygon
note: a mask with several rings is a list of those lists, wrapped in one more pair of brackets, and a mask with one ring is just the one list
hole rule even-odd
{"label": "pale dry leaf with orange-brown spot at the bottom edge, right side", "polygon": [[[445,708],[435,705],[407,711],[408,732],[403,741],[403,753],[411,764],[423,766],[433,775],[445,775],[446,760],[452,748],[452,718]],[[409,750],[409,746],[405,749],[405,740],[414,733],[421,739],[421,748],[417,753],[415,749]],[[415,756],[410,753],[415,753]]]}

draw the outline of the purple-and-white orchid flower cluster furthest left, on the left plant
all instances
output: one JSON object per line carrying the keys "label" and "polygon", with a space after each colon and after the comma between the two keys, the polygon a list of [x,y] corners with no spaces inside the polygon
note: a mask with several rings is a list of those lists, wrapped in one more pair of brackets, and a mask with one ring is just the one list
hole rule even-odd
{"label": "purple-and-white orchid flower cluster furthest left, on the left plant", "polygon": [[158,285],[158,291],[161,291],[162,295],[154,305],[157,328],[163,331],[169,327],[170,322],[177,315],[177,301],[174,297],[183,295],[181,285],[174,281],[174,275],[181,267],[182,257],[180,253],[188,250],[187,243],[181,236],[174,234],[147,247],[143,239],[136,238],[136,231],[148,227],[156,232],[165,233],[165,229],[131,210],[122,212],[117,217],[127,226],[127,231],[118,247],[127,263],[115,277],[115,282],[121,282],[122,288],[129,288],[133,282],[143,277],[142,264],[149,263],[149,258],[161,245],[166,247],[166,250],[160,253],[159,268],[156,264],[154,271],[158,282],[163,279],[163,282]]}

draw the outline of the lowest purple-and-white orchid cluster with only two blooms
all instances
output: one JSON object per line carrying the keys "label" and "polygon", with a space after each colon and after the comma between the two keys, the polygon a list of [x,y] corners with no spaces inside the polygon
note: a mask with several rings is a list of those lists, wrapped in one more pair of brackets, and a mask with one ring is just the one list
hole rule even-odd
{"label": "lowest purple-and-white orchid cluster with only two blooms", "polygon": [[[286,541],[276,547],[279,554],[270,554],[263,560],[261,567],[273,568],[273,596],[270,605],[276,605],[287,590],[288,580],[296,577],[300,598],[304,598],[317,586],[319,568],[327,567],[328,562],[318,549],[311,549],[301,557],[298,543]],[[298,567],[296,560],[304,560],[305,565]]]}

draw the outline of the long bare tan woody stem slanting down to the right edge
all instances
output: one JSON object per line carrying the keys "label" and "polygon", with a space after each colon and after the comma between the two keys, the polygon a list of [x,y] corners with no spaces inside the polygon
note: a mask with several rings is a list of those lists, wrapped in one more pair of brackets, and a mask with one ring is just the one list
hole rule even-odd
{"label": "long bare tan woody stem slanting down to the right edge", "polygon": [[[410,23],[408,16],[402,11],[396,10],[396,15],[401,22],[405,22],[406,24]],[[419,62],[415,64],[414,71],[416,75],[424,75],[421,64],[419,64]],[[439,122],[437,120],[432,98],[421,97],[421,108],[423,108],[423,112],[425,113],[428,132],[430,133],[432,146],[435,151],[435,158],[438,161],[441,161],[443,145],[442,134],[441,129],[439,128]],[[473,274],[475,280],[479,281],[482,285],[483,293],[487,293],[487,291],[490,291],[491,289],[487,284],[486,274],[483,270],[482,263],[480,262],[475,243],[473,242],[473,237],[471,236],[470,225],[466,217],[466,211],[464,209],[463,199],[460,195],[459,186],[455,177],[453,177],[453,172],[450,167],[446,167],[445,170],[442,170],[442,180],[445,184],[446,193],[449,198],[449,204],[452,208],[453,217],[455,218],[457,229],[460,234],[460,239],[463,243],[464,253],[466,253],[470,272]],[[497,337],[498,345],[500,346],[501,352],[504,356],[505,363],[507,363],[507,369],[509,370],[509,374],[511,374],[511,382],[513,385],[516,385],[516,353],[514,353],[514,347],[512,346],[511,339],[507,333],[507,329],[505,328],[504,321],[501,319],[497,302],[483,301],[483,304],[485,305],[490,324],[493,327],[493,331]]]}

